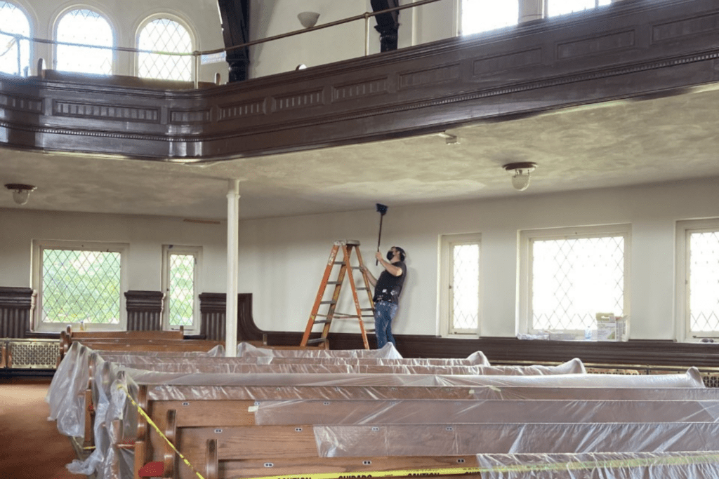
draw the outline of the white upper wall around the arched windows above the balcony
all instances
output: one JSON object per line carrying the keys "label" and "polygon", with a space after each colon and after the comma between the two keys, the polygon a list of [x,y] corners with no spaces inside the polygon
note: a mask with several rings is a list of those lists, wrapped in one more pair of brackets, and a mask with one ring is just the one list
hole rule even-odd
{"label": "white upper wall around the arched windows above the balcony", "polygon": [[[539,0],[520,0],[522,20],[537,17]],[[135,47],[139,27],[148,17],[168,14],[186,26],[196,38],[196,49],[209,51],[224,48],[217,0],[83,0],[50,2],[45,0],[12,0],[29,16],[31,36],[53,39],[58,18],[69,9],[91,8],[103,14],[116,32],[116,46]],[[405,48],[440,39],[454,37],[457,32],[460,0],[440,0],[434,4],[400,11],[398,47]],[[402,0],[400,4],[411,4]],[[132,5],[130,7],[130,5]],[[250,39],[273,37],[303,29],[297,14],[316,11],[318,26],[372,11],[370,0],[252,0],[250,2]],[[531,15],[526,15],[530,11]],[[377,21],[370,19],[370,55],[380,52],[380,36],[375,30]],[[365,55],[365,21],[358,20],[328,29],[308,32],[295,37],[275,40],[250,47],[250,78],[348,60]],[[52,68],[53,47],[36,44],[31,52],[31,70],[35,74],[37,59],[44,58],[46,68]],[[135,75],[134,55],[116,53],[117,75]],[[201,65],[200,80],[214,81],[221,74],[227,80],[226,62]]]}

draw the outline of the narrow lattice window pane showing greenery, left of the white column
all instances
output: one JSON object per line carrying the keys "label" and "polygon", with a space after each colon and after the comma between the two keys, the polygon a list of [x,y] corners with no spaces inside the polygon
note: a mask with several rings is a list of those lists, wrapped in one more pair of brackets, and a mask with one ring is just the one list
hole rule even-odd
{"label": "narrow lattice window pane showing greenery, left of the white column", "polygon": [[170,326],[191,326],[195,307],[195,256],[170,254]]}

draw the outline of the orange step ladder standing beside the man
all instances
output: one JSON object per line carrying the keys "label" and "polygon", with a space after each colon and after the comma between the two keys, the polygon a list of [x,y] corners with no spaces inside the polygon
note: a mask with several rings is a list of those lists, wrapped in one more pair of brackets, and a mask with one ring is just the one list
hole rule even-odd
{"label": "orange step ladder standing beside the man", "polygon": [[[342,250],[342,259],[338,260],[337,255]],[[352,266],[352,251],[357,254],[357,265]],[[336,276],[335,281],[329,281],[334,266],[339,266],[339,273]],[[362,342],[365,343],[365,349],[370,349],[370,343],[367,342],[367,331],[365,330],[365,322],[362,318],[375,317],[375,302],[372,301],[372,292],[370,290],[370,282],[367,279],[367,274],[362,273],[362,279],[365,282],[364,287],[357,287],[354,281],[354,271],[361,271],[362,266],[362,254],[359,253],[359,241],[357,240],[344,240],[335,241],[332,249],[329,253],[329,259],[327,260],[327,267],[324,269],[324,276],[322,276],[322,282],[319,285],[319,291],[315,298],[312,312],[310,313],[310,319],[307,322],[305,333],[302,336],[301,346],[314,345],[324,343],[329,348],[327,335],[329,334],[329,327],[334,319],[356,319],[359,322],[359,330],[362,332]],[[344,314],[336,312],[337,302],[339,301],[339,293],[342,291],[342,283],[344,277],[347,276],[349,280],[349,288],[352,289],[352,299],[354,299],[354,308],[357,310],[356,314]],[[324,300],[324,293],[327,289],[327,285],[334,285],[334,292],[332,292],[332,299]],[[357,291],[367,292],[367,299],[370,302],[370,307],[362,307],[359,304],[359,296]],[[325,314],[319,314],[320,307],[327,306],[327,312]],[[321,318],[321,319],[318,319]],[[324,325],[322,327],[322,333],[319,338],[310,339],[312,328],[315,325]]]}

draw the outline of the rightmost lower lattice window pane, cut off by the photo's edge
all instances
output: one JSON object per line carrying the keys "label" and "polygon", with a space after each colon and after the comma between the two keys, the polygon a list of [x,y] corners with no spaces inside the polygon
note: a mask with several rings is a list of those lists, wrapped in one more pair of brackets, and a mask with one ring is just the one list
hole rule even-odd
{"label": "rightmost lower lattice window pane, cut off by the photo's edge", "polygon": [[689,317],[692,332],[719,331],[719,231],[690,234]]}

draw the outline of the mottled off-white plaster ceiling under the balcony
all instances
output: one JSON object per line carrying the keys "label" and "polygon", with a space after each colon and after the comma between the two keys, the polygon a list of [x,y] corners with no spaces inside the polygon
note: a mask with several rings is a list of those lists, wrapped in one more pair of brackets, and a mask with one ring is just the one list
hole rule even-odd
{"label": "mottled off-white plaster ceiling under the balcony", "polygon": [[[183,218],[226,216],[228,178],[240,178],[241,218],[536,195],[719,177],[719,89],[626,100],[485,122],[440,136],[203,166],[0,148],[0,185],[29,183],[27,205],[0,208]],[[525,192],[508,162],[539,166]]]}

